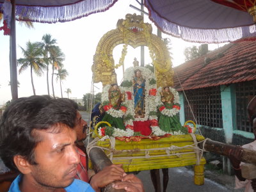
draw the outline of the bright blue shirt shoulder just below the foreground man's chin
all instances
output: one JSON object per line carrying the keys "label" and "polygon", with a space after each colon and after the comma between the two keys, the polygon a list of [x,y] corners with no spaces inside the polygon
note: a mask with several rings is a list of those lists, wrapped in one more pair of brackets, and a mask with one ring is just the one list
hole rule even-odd
{"label": "bright blue shirt shoulder just below the foreground man's chin", "polygon": [[87,182],[83,180],[75,179],[70,186],[65,188],[67,192],[93,192],[93,188]]}

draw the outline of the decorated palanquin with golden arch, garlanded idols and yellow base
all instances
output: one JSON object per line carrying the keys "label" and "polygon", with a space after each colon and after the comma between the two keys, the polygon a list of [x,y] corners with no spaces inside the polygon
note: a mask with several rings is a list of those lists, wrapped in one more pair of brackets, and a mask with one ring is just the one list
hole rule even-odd
{"label": "decorated palanquin with golden arch, garlanded idols and yellow base", "polygon": [[[113,49],[119,44],[124,46],[115,64]],[[115,68],[124,65],[127,45],[147,46],[154,72],[134,59],[118,86]],[[205,159],[197,147],[204,137],[195,134],[195,124],[180,124],[170,53],[152,34],[152,26],[135,14],[118,20],[117,28],[100,39],[92,71],[93,82],[103,85],[104,115],[100,122],[92,122],[95,141],[89,148],[102,148],[113,163],[123,164],[125,172],[195,165],[195,184],[204,184]]]}

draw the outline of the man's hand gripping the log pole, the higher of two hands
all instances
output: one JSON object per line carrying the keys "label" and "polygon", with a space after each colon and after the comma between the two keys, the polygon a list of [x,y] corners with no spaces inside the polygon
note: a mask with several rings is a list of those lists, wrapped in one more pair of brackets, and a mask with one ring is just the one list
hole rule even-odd
{"label": "man's hand gripping the log pole, the higher of two hands", "polygon": [[99,188],[104,188],[115,180],[122,180],[123,174],[122,164],[111,164],[93,175],[90,185],[95,191],[99,191]]}

